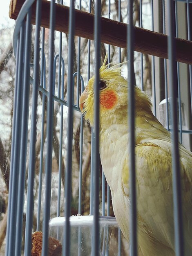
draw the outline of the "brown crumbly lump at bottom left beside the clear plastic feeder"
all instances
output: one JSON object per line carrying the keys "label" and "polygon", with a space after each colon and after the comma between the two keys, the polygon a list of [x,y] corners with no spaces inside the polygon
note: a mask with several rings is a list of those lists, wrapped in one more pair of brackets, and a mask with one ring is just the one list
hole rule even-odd
{"label": "brown crumbly lump at bottom left beside the clear plastic feeder", "polygon": [[[32,248],[31,256],[41,256],[42,251],[42,236],[43,233],[36,231],[32,234]],[[61,256],[62,255],[62,245],[54,237],[49,237],[48,239],[48,256]]]}

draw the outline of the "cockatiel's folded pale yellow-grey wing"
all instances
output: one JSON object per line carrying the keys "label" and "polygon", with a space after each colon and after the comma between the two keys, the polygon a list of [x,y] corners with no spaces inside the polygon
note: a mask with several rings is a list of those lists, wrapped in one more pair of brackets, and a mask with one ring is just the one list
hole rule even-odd
{"label": "cockatiel's folded pale yellow-grey wing", "polygon": [[[171,143],[153,139],[135,147],[137,210],[150,227],[153,236],[164,245],[174,248],[172,152]],[[183,189],[184,227],[191,229],[192,155],[182,145],[180,170]],[[127,159],[126,159],[127,162]],[[128,165],[122,173],[123,193],[129,196]],[[189,233],[189,232],[188,232]],[[192,233],[192,232],[191,232]],[[191,235],[188,240],[190,240]]]}

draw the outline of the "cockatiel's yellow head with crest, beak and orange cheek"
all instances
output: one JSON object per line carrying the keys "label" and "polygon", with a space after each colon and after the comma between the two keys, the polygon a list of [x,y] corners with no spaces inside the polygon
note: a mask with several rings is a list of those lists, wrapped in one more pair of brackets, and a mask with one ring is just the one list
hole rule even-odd
{"label": "cockatiel's yellow head with crest, beak and orange cheek", "polygon": [[[120,63],[109,67],[107,64],[107,56],[103,65],[100,67],[100,81],[99,87],[99,101],[100,101],[100,126],[107,126],[107,124],[119,123],[118,113],[124,112],[124,119],[127,120],[127,79],[125,79],[121,70],[123,64]],[[81,94],[79,99],[80,110],[84,115],[86,121],[91,126],[94,125],[94,80],[95,76],[89,79],[88,84]],[[147,95],[135,86],[135,97],[137,98],[138,106],[151,106]],[[116,120],[118,119],[118,120]],[[122,122],[122,120],[121,120]]]}

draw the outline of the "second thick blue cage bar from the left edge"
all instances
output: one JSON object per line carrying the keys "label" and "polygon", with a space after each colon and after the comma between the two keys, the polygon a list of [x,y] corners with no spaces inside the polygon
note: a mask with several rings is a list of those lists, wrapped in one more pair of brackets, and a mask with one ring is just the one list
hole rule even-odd
{"label": "second thick blue cage bar from the left edge", "polygon": [[25,30],[25,57],[24,57],[24,79],[22,94],[22,120],[21,120],[21,147],[20,147],[20,167],[18,180],[18,206],[17,206],[17,229],[16,229],[16,250],[15,255],[21,254],[22,245],[22,224],[23,224],[23,205],[25,196],[25,172],[27,158],[27,137],[28,137],[28,119],[29,119],[29,92],[30,92],[30,67],[31,58],[31,8],[27,13],[27,22]]}

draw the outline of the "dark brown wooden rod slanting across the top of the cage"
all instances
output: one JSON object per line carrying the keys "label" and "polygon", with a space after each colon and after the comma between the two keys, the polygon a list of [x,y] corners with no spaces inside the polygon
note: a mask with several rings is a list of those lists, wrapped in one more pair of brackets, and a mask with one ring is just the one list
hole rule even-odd
{"label": "dark brown wooden rod slanting across the top of the cage", "polygon": [[[9,16],[16,19],[24,0],[11,0]],[[42,0],[41,26],[49,28],[50,2]],[[35,24],[36,2],[32,6],[32,24]],[[56,4],[55,30],[69,33],[69,7]],[[75,35],[94,40],[94,14],[75,9]],[[167,58],[167,35],[134,27],[134,50]],[[122,48],[127,47],[127,24],[101,18],[101,41]],[[175,38],[176,61],[192,64],[192,41]]]}

